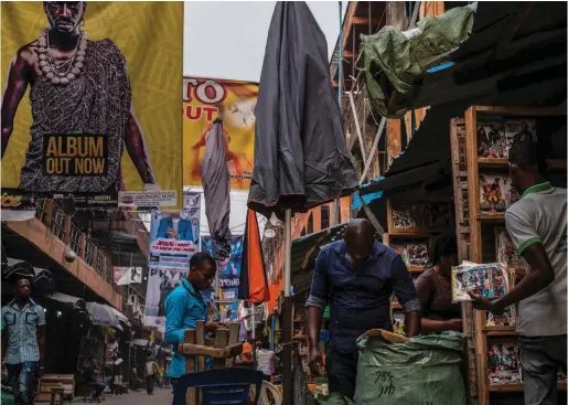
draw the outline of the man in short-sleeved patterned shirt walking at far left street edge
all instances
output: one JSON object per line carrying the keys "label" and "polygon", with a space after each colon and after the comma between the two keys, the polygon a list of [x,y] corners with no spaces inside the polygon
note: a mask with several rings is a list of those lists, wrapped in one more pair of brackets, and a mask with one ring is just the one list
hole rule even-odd
{"label": "man in short-sleeved patterned shirt walking at far left street edge", "polygon": [[14,299],[2,307],[2,364],[18,404],[34,403],[33,379],[43,375],[45,313],[30,298],[29,278],[15,276]]}

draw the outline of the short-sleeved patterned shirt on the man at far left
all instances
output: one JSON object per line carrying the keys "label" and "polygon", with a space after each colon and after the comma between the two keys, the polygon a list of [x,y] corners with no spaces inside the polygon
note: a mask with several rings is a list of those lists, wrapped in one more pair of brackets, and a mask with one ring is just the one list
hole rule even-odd
{"label": "short-sleeved patterned shirt on the man at far left", "polygon": [[43,307],[30,298],[20,310],[15,300],[2,307],[2,327],[8,328],[7,364],[40,361],[37,328],[45,324]]}

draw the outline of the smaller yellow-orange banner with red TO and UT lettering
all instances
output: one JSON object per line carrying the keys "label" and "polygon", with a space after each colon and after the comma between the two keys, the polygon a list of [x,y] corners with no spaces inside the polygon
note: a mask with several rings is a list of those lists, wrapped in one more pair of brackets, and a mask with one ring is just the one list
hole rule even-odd
{"label": "smaller yellow-orange banner with red TO and UT lettering", "polygon": [[255,106],[258,84],[183,78],[183,185],[202,186],[201,160],[212,122],[223,118],[228,142],[231,188],[248,190],[255,159]]}

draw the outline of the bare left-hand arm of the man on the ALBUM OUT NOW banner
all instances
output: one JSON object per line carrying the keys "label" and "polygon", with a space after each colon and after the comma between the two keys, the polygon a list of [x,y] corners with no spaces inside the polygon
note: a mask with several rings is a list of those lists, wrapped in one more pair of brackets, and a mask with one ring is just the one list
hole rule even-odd
{"label": "bare left-hand arm of the man on the ALBUM OUT NOW banner", "polygon": [[8,73],[6,90],[2,96],[1,108],[2,158],[4,156],[8,142],[12,135],[15,111],[18,110],[18,106],[20,105],[20,102],[22,100],[22,97],[25,94],[25,89],[28,88],[28,82],[30,77],[29,72],[30,66],[33,65],[33,51],[29,50],[28,46],[25,46],[18,52],[12,63],[10,64],[10,71]]}

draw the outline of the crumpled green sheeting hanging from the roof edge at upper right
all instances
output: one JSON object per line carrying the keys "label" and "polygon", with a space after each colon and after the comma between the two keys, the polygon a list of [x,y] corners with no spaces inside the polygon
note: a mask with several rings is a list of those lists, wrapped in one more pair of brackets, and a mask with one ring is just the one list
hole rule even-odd
{"label": "crumpled green sheeting hanging from the roof edge at upper right", "polygon": [[373,114],[401,117],[426,71],[449,61],[450,53],[470,36],[475,7],[457,7],[426,17],[412,30],[383,28],[362,36],[365,85]]}

